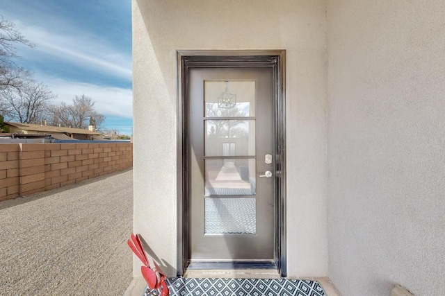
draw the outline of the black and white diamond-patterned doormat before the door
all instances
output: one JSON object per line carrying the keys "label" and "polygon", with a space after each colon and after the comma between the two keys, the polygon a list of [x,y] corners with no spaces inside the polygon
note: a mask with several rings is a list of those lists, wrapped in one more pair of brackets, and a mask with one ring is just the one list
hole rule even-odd
{"label": "black and white diamond-patterned doormat before the door", "polygon": [[[170,296],[326,296],[317,281],[299,279],[167,279]],[[143,296],[150,295],[145,290]]]}

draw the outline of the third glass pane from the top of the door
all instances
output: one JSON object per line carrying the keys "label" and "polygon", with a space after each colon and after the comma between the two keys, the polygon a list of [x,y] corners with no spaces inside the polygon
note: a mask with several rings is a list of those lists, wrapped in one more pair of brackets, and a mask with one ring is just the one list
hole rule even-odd
{"label": "third glass pane from the top of the door", "polygon": [[205,195],[254,195],[255,159],[205,159]]}

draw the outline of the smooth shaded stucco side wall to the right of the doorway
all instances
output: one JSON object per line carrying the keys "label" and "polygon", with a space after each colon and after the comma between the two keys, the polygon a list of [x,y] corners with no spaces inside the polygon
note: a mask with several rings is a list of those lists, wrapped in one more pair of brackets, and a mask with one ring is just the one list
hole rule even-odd
{"label": "smooth shaded stucco side wall to the right of the doorway", "polygon": [[445,2],[328,0],[330,277],[445,295]]}

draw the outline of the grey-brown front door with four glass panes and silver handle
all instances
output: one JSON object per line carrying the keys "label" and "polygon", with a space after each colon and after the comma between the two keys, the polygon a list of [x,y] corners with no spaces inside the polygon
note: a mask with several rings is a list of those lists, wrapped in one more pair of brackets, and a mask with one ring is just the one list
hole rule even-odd
{"label": "grey-brown front door with four glass panes and silver handle", "polygon": [[189,262],[272,266],[273,68],[189,68],[187,89]]}

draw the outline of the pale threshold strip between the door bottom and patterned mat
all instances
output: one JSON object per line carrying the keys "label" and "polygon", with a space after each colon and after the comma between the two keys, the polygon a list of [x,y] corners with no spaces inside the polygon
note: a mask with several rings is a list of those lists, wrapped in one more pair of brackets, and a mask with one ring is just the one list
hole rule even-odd
{"label": "pale threshold strip between the door bottom and patterned mat", "polygon": [[280,272],[276,269],[224,269],[204,270],[187,269],[186,278],[225,278],[225,279],[280,279]]}

